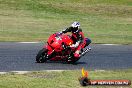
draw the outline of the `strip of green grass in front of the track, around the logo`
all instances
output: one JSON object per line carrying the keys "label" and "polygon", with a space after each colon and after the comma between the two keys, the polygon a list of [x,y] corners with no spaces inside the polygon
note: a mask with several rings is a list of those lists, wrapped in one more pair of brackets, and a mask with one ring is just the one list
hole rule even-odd
{"label": "strip of green grass in front of the track, around the logo", "polygon": [[[0,75],[0,88],[84,88],[79,84],[81,70],[61,72],[8,73]],[[132,81],[132,70],[89,71],[89,78],[126,79]],[[122,88],[131,88],[123,86]],[[90,86],[86,88],[121,88],[121,86]]]}

